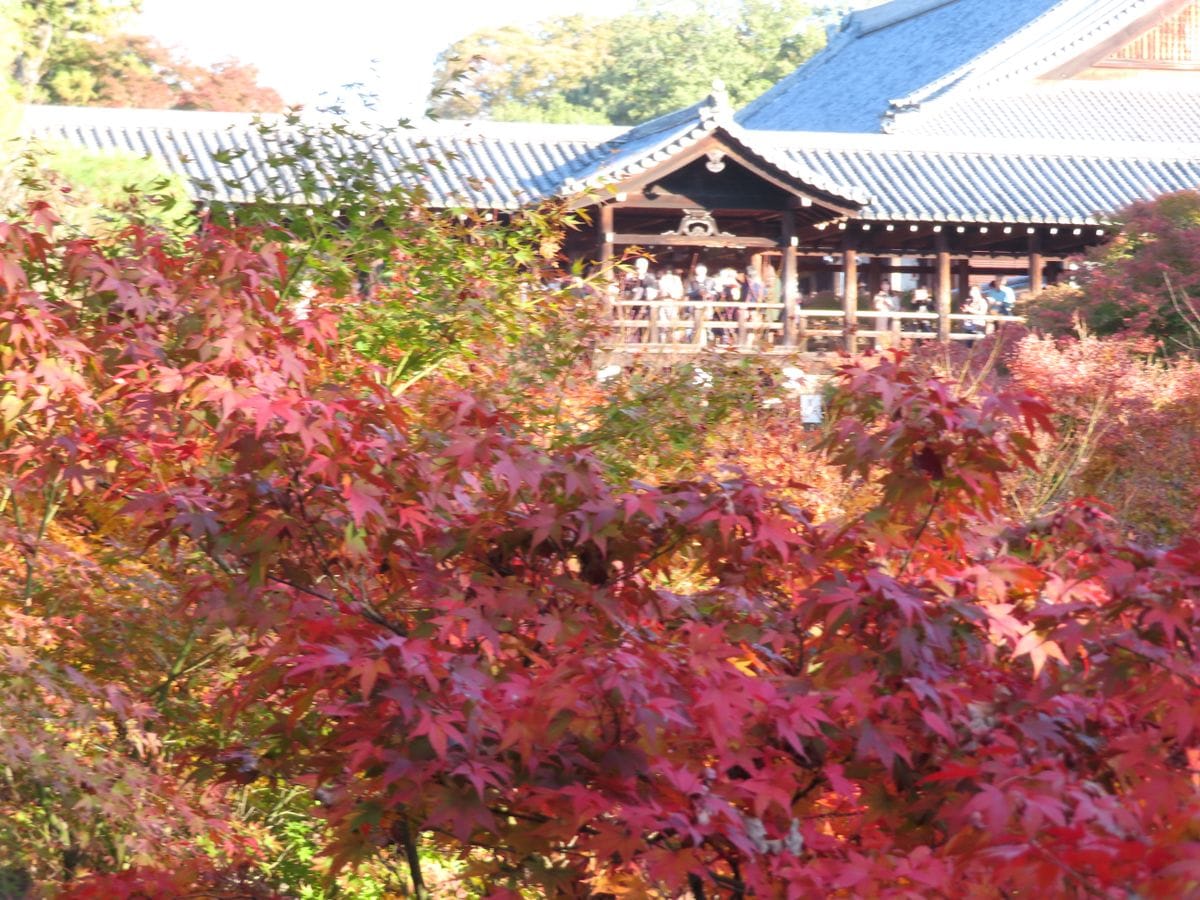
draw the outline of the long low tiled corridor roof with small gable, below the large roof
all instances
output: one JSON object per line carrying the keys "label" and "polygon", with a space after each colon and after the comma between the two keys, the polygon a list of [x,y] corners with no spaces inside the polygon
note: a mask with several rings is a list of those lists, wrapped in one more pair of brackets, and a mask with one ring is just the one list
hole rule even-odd
{"label": "long low tiled corridor roof with small gable, below the large roof", "polygon": [[[715,104],[719,106],[719,104]],[[426,125],[373,145],[385,178],[424,182],[434,205],[511,209],[575,194],[684,152],[704,134],[816,191],[863,204],[865,220],[1082,226],[1135,199],[1200,186],[1200,143],[1087,143],[751,131],[697,104],[631,130],[548,125]],[[206,113],[32,108],[35,134],[94,150],[150,152],[199,199],[240,199],[276,169],[248,118]],[[220,184],[214,154],[247,148]],[[185,158],[186,154],[186,158]],[[433,158],[446,157],[443,166]],[[215,182],[208,191],[204,182]]]}

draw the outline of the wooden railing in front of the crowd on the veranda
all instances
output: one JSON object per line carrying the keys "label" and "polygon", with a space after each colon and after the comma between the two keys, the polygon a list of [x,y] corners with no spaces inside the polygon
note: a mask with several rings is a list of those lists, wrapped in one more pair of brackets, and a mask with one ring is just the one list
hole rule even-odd
{"label": "wooden railing in front of the crowd on the veranda", "polygon": [[[613,343],[628,349],[680,352],[721,346],[746,350],[853,350],[860,342],[883,347],[900,341],[936,341],[941,334],[936,312],[858,310],[847,322],[842,310],[799,308],[788,335],[784,310],[782,304],[620,300],[612,304]],[[976,341],[1000,325],[1025,319],[952,313],[947,320],[948,340]]]}

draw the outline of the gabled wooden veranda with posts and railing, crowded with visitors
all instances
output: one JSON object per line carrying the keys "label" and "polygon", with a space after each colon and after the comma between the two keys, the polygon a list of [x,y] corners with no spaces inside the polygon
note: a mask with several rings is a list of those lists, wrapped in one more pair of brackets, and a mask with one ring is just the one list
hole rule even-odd
{"label": "gabled wooden veranda with posts and railing, crowded with visitors", "polygon": [[[575,205],[589,209],[594,232],[592,242],[581,233],[569,251],[612,283],[614,346],[642,353],[713,346],[853,353],[901,341],[973,341],[1021,317],[964,310],[972,284],[1020,276],[1022,292],[1037,293],[1105,236],[1099,224],[882,220],[869,198],[805,180],[731,127],[713,127],[673,152],[660,145]],[[744,271],[762,281],[764,296],[630,295],[620,263],[637,257],[684,280],[701,264]],[[895,275],[923,283],[928,312],[872,306],[874,292]]]}

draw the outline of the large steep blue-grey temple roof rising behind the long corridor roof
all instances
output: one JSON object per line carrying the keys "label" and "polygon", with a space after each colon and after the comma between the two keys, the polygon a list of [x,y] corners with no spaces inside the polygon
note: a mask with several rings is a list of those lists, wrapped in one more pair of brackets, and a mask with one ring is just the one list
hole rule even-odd
{"label": "large steep blue-grey temple roof rising behind the long corridor roof", "polygon": [[[828,47],[738,114],[748,128],[1064,137],[1088,118],[1075,96],[1038,79],[1178,0],[893,0],[851,13]],[[1079,85],[1079,83],[1073,83]],[[1147,106],[1139,104],[1145,95]],[[1085,131],[1100,139],[1200,140],[1200,85],[1171,91],[1079,85],[1122,115]],[[1183,112],[1171,115],[1168,103]],[[1032,110],[1040,116],[1026,118]],[[976,110],[976,112],[973,112]],[[1165,114],[1165,115],[1164,115]],[[989,118],[990,115],[990,118]],[[932,121],[931,121],[932,120]],[[1061,124],[1060,124],[1061,122]]]}

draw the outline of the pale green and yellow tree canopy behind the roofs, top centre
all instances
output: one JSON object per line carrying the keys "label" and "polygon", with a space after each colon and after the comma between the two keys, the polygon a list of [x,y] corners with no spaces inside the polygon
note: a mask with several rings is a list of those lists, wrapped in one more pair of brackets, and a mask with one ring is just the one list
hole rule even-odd
{"label": "pale green and yellow tree canopy behind the roofs, top centre", "polygon": [[802,0],[643,1],[616,18],[485,29],[438,58],[433,112],[631,125],[696,102],[716,77],[744,103],[823,46],[830,14]]}

